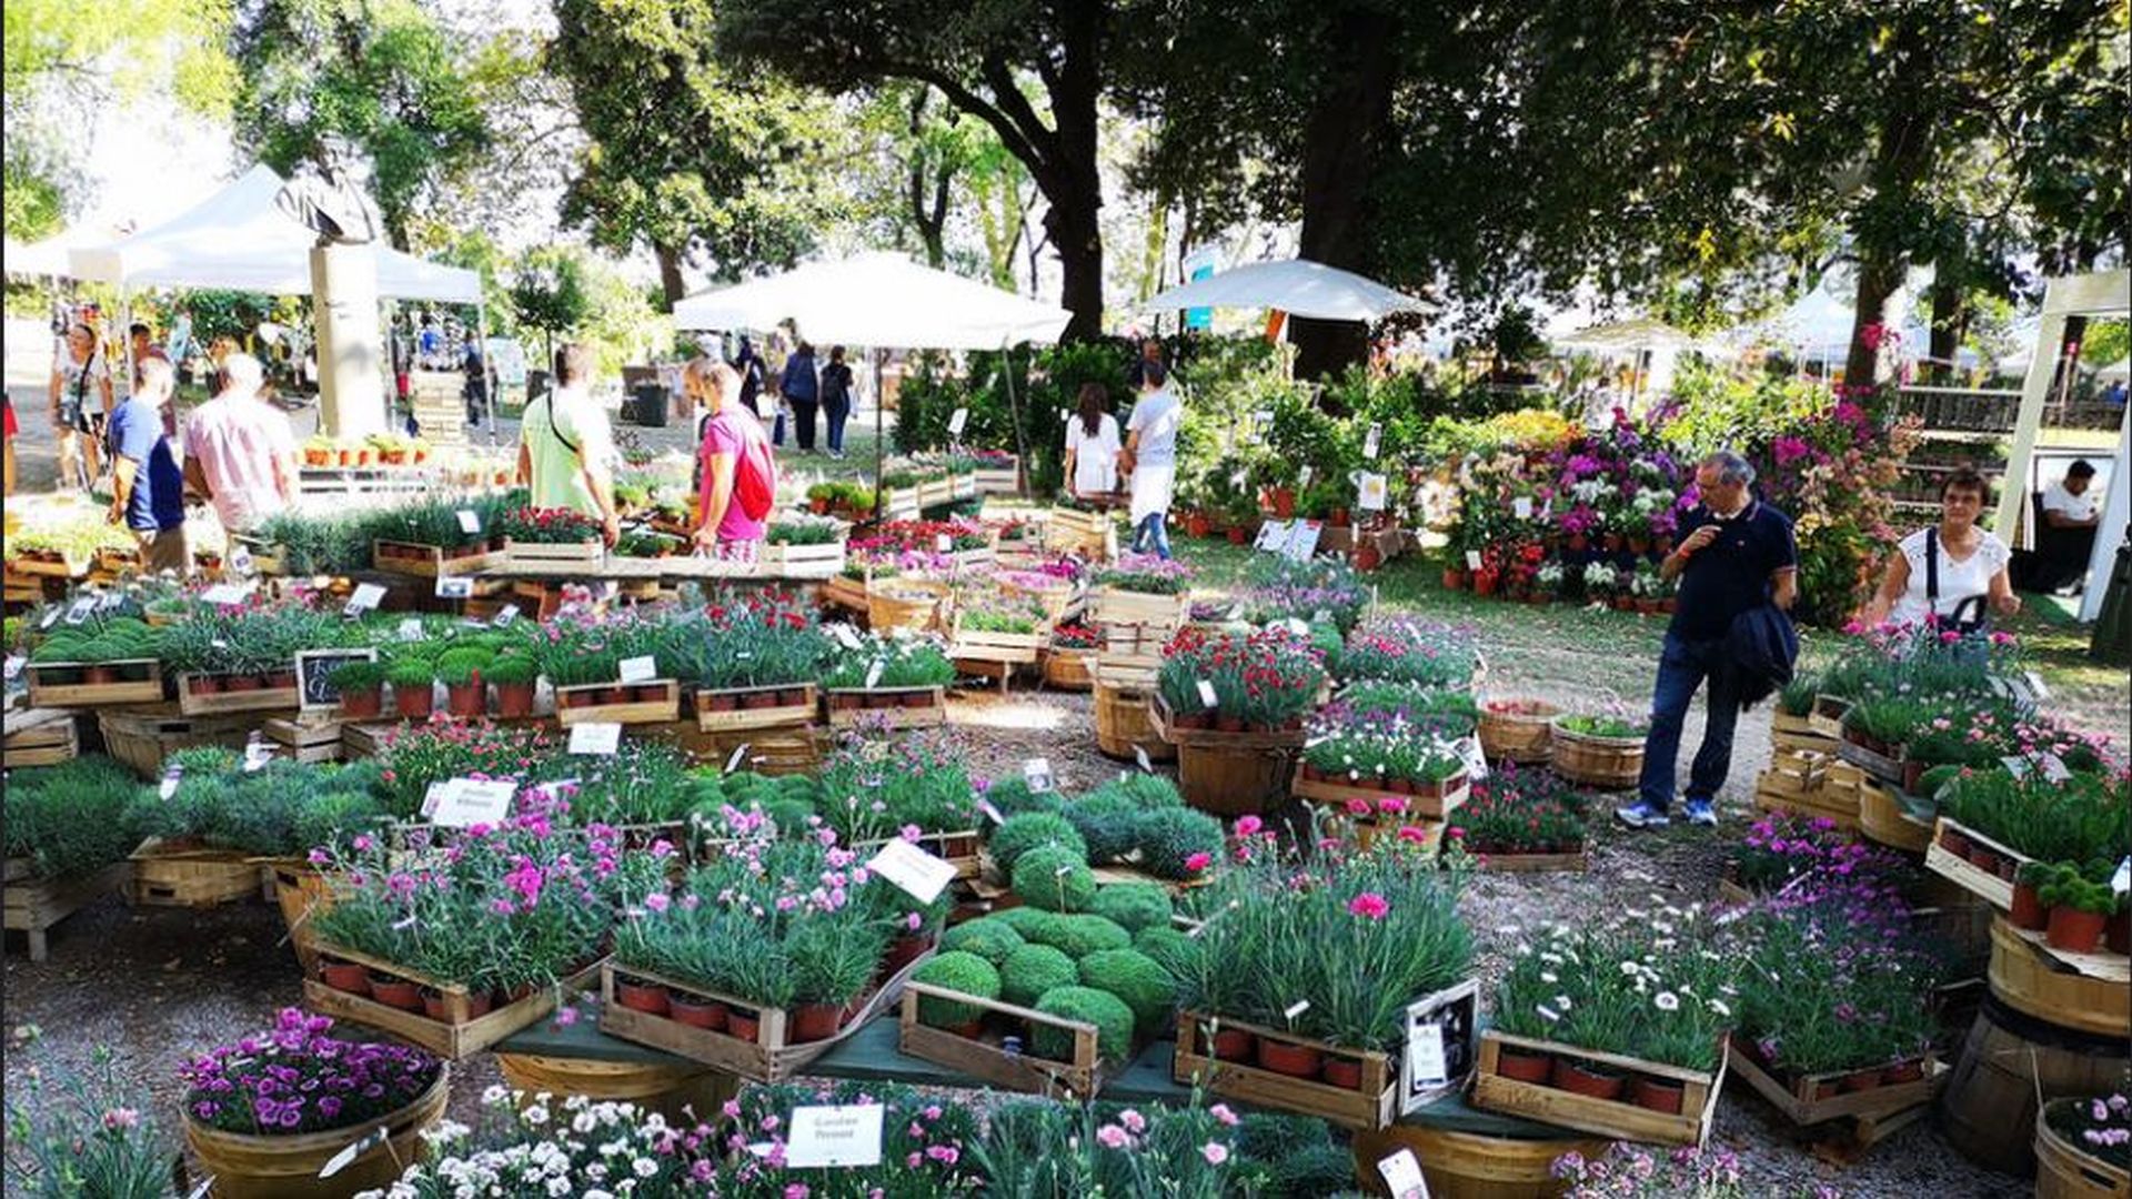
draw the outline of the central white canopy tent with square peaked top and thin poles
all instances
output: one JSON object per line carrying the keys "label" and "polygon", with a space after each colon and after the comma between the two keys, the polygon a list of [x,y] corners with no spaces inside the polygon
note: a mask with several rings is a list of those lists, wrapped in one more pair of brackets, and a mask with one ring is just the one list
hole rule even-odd
{"label": "central white canopy tent with square peaked top and thin poles", "polygon": [[[785,320],[821,346],[1006,350],[1019,341],[1057,341],[1072,314],[962,275],[919,267],[891,252],[855,254],[842,262],[808,262],[780,275],[697,292],[674,305],[676,329],[772,329]],[[1013,373],[1006,378],[1013,403]],[[874,397],[878,503],[885,444],[878,403],[881,354],[874,354]],[[1015,427],[1019,425],[1017,418]]]}

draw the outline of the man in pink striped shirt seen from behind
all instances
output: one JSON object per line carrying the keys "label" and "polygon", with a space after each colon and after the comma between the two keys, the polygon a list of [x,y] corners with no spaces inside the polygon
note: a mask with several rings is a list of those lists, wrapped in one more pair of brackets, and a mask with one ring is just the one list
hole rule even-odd
{"label": "man in pink striped shirt seen from behind", "polygon": [[222,361],[226,386],[185,425],[185,484],[215,501],[222,527],[249,533],[296,506],[296,437],[260,395],[252,354]]}

